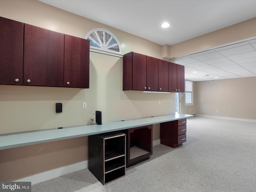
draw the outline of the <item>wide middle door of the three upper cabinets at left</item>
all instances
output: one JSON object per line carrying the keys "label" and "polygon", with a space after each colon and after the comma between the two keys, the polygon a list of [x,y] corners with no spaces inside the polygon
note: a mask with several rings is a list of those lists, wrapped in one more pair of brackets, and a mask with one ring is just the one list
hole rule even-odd
{"label": "wide middle door of the three upper cabinets at left", "polygon": [[63,87],[64,34],[24,25],[23,84]]}

